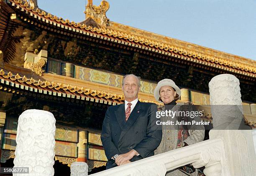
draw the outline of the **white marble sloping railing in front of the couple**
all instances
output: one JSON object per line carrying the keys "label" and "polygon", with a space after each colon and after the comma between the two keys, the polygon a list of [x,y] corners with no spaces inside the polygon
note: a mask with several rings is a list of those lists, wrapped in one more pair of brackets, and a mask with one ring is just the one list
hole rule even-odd
{"label": "white marble sloping railing in front of the couple", "polygon": [[205,166],[206,176],[253,176],[256,155],[251,130],[212,130],[210,139],[92,176],[164,176],[180,166]]}

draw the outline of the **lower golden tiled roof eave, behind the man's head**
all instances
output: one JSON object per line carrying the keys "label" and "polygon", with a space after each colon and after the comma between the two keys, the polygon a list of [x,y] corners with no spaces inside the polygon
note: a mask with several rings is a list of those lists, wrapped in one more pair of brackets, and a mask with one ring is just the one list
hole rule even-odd
{"label": "lower golden tiled roof eave, behind the man's head", "polygon": [[[10,64],[7,64],[7,65],[8,67],[11,67]],[[54,76],[53,74],[49,74],[49,77],[53,77],[53,76]],[[41,79],[34,79],[33,77],[28,77],[28,75],[25,75],[22,72],[13,73],[10,70],[0,68],[0,89],[3,89],[4,91],[7,91],[7,92],[17,93],[17,94],[19,94],[22,91],[23,92],[30,91],[30,92],[36,92],[36,93],[41,93],[45,95],[64,97],[64,98],[65,97],[73,98],[78,100],[86,100],[86,101],[104,103],[104,104],[110,104],[110,105],[122,104],[124,102],[123,94],[106,92],[104,90],[100,90],[100,88],[91,89],[89,87],[85,88],[80,86],[74,86],[71,84],[65,84],[64,82],[67,82],[67,77],[60,76],[60,75],[56,75],[56,77],[59,77],[57,79],[59,83],[51,80],[49,81],[47,79],[44,79],[44,77],[41,77]],[[73,79],[73,82],[77,81],[77,80],[74,80],[74,78],[70,78],[70,79]],[[86,81],[84,80],[81,82],[84,82],[84,85],[88,85],[85,83]],[[97,83],[92,83],[92,84],[97,84]],[[13,87],[13,88],[10,88],[10,87]],[[110,87],[110,86],[106,85],[106,87]],[[157,105],[161,105],[160,103],[157,103],[154,101],[148,101],[146,99],[139,99],[139,100],[141,102],[152,102]]]}

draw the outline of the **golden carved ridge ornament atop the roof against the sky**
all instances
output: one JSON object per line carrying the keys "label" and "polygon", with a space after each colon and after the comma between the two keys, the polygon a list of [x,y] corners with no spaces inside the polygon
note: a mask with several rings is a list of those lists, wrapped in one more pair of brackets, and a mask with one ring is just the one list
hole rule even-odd
{"label": "golden carved ridge ornament atop the roof against the sky", "polygon": [[99,25],[107,26],[108,25],[108,17],[106,16],[106,12],[109,9],[109,3],[105,0],[100,2],[99,6],[92,5],[92,0],[88,0],[88,4],[86,5],[85,18],[86,20],[91,17],[95,22]]}

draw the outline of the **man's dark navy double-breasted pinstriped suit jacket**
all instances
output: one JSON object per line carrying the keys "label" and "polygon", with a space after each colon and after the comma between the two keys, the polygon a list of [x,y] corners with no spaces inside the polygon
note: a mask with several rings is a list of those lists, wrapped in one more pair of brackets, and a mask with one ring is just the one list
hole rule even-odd
{"label": "man's dark navy double-breasted pinstriped suit jacket", "polygon": [[162,138],[162,128],[156,125],[156,104],[137,102],[127,121],[125,104],[109,107],[102,125],[101,141],[108,158],[107,169],[117,166],[111,159],[135,149],[137,161],[154,155]]}

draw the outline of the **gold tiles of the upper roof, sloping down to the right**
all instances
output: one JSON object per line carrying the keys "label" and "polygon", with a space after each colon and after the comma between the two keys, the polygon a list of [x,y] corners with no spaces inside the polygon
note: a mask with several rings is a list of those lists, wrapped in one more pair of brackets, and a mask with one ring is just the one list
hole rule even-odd
{"label": "gold tiles of the upper roof, sloping down to the right", "polygon": [[[10,0],[10,2],[15,2],[16,5],[23,5],[27,10],[31,10],[29,5],[26,5],[25,0]],[[20,10],[20,9],[19,9]],[[90,26],[79,26],[79,23],[69,22],[68,20],[62,20],[62,18],[58,18],[56,16],[52,17],[49,13],[46,14],[43,10],[39,10],[38,8],[32,10],[34,13],[38,15],[49,18],[51,20],[55,20],[56,22],[61,22],[64,25],[71,25],[72,27],[80,27],[84,30],[89,30],[91,32],[97,32],[104,35],[109,35],[113,37],[118,37],[120,39],[128,39],[131,42],[136,42],[138,44],[149,45],[150,47],[156,47],[159,49],[164,49],[168,52],[175,52],[182,55],[192,56],[198,59],[206,59],[207,61],[214,62],[216,64],[224,64],[229,67],[245,70],[248,72],[256,73],[256,61],[251,59],[247,59],[244,57],[239,57],[236,55],[230,55],[225,52],[220,52],[217,50],[213,50],[210,48],[202,47],[199,45],[195,45],[188,42],[183,42],[180,40],[172,39],[169,37],[157,35],[151,32],[147,32],[144,30],[139,30],[133,27],[121,25],[115,22],[110,22],[110,26],[100,26],[101,28],[92,28]],[[112,29],[113,28],[113,29]],[[151,38],[154,38],[152,40]],[[171,42],[171,43],[169,43]],[[171,44],[171,45],[170,45]],[[182,47],[177,47],[175,45],[180,45]],[[156,52],[159,52],[158,50]],[[160,51],[161,53],[161,51]],[[166,53],[165,53],[166,54]],[[169,55],[169,54],[168,54]],[[218,57],[216,57],[218,56]],[[244,73],[246,74],[246,73]],[[255,77],[255,76],[254,76]]]}

